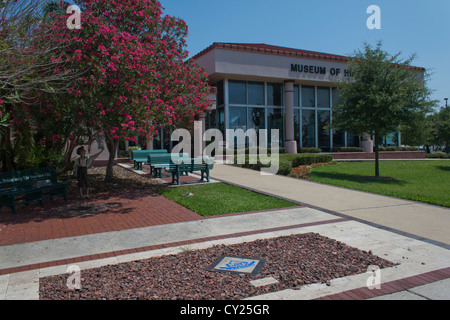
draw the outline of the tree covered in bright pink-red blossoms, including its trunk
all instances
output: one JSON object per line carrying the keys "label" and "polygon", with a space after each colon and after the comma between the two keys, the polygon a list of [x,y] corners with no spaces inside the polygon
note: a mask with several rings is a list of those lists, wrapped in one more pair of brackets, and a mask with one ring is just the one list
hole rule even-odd
{"label": "tree covered in bright pink-red blossoms, including its trunk", "polygon": [[[67,5],[67,4],[64,4]],[[188,58],[188,27],[163,15],[155,0],[83,0],[81,29],[59,37],[67,16],[58,16],[54,37],[72,57],[72,68],[87,69],[67,94],[76,118],[103,134],[109,151],[105,180],[121,137],[153,139],[162,127],[187,127],[210,105],[207,76]]]}

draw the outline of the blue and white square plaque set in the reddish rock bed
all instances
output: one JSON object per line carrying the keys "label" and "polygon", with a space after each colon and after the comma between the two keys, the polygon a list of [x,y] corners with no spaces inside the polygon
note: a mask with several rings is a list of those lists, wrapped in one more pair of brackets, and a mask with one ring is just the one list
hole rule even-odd
{"label": "blue and white square plaque set in the reddish rock bed", "polygon": [[254,276],[258,274],[266,259],[255,259],[247,257],[233,257],[223,255],[219,257],[207,270],[217,272],[241,273]]}

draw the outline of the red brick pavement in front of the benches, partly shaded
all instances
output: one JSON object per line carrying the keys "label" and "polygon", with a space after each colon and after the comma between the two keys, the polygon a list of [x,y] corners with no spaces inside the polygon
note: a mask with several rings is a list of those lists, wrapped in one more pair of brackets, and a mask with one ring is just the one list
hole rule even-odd
{"label": "red brick pavement in front of the benches, partly shaded", "polygon": [[112,196],[93,195],[90,200],[69,196],[68,201],[48,200],[44,205],[19,206],[17,214],[8,207],[0,209],[0,245],[202,219],[151,190],[119,190]]}

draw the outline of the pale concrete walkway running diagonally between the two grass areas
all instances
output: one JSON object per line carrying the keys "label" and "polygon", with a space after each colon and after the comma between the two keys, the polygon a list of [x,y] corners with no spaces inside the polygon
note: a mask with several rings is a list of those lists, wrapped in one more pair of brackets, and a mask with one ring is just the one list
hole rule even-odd
{"label": "pale concrete walkway running diagonally between the two grass areas", "polygon": [[383,226],[450,248],[450,209],[217,164],[214,179]]}

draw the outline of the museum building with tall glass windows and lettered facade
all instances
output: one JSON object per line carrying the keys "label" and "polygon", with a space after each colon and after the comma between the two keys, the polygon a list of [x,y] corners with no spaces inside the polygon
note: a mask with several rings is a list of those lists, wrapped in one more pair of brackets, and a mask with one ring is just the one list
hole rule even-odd
{"label": "museum building with tall glass windows and lettered facade", "polygon": [[[349,76],[348,57],[266,44],[213,43],[192,59],[216,88],[216,103],[200,120],[205,129],[221,130],[228,143],[227,129],[253,128],[279,129],[279,144],[288,153],[308,147],[323,152],[364,147],[361,137],[329,126],[337,81]],[[267,139],[270,145],[270,134]],[[383,145],[398,146],[400,140],[400,134],[392,134]]]}

